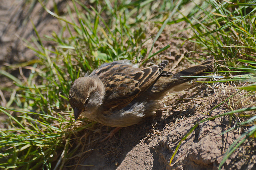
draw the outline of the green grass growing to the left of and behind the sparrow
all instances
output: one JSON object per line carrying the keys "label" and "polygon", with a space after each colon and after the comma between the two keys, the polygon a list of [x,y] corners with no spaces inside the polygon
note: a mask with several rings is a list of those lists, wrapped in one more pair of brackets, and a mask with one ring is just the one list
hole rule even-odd
{"label": "green grass growing to the left of and behind the sparrow", "polygon": [[[84,4],[73,0],[72,6],[67,6],[68,20],[57,15],[57,8],[53,13],[39,2],[49,14],[64,21],[64,26],[59,33],[45,37],[40,37],[34,26],[33,42],[23,41],[38,59],[8,65],[0,72],[16,86],[14,90],[4,89],[12,93],[7,104],[0,106],[0,111],[8,116],[0,132],[1,168],[62,169],[75,153],[82,154],[78,150],[80,145],[75,145],[73,134],[92,123],[74,123],[68,104],[71,83],[105,62],[141,61],[148,53],[142,49],[146,41],[145,22],[150,20],[148,11],[159,13],[165,10],[166,3],[173,9],[182,5],[182,1],[159,4],[152,0],[106,0]],[[54,45],[46,46],[46,41]],[[9,69],[18,68],[21,79],[8,73]],[[24,71],[29,76],[24,76]]]}

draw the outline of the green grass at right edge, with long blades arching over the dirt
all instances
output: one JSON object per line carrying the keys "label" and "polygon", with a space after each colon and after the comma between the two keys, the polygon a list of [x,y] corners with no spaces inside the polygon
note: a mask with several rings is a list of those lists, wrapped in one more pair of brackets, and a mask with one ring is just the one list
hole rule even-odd
{"label": "green grass at right edge, with long blades arching over the dirt", "polygon": [[[238,87],[238,89],[250,92],[246,92],[242,98],[254,98],[253,96],[255,96],[256,91],[254,84],[256,81],[256,58],[254,57],[256,54],[256,8],[254,8],[254,6],[254,1],[248,3],[224,1],[220,3],[210,0],[196,5],[193,12],[187,16],[183,15],[184,20],[189,23],[190,29],[192,29],[195,34],[193,37],[186,39],[186,41],[192,41],[198,44],[201,49],[201,51],[195,51],[195,53],[199,52],[206,55],[214,55],[215,59],[221,63],[220,66],[216,68],[218,69],[216,73],[222,74],[223,76],[218,77],[220,78],[218,80],[208,81],[208,83],[228,83],[232,81],[233,84],[241,84],[239,82],[244,82],[244,84],[247,85]],[[212,78],[216,78],[216,76]],[[228,102],[228,106],[226,107],[227,113],[200,121],[184,135],[172,155],[170,165],[182,141],[204,121],[229,115],[233,120],[240,122],[228,129],[228,131],[240,127],[251,127],[249,129],[245,128],[246,130],[241,137],[230,146],[219,165],[219,169],[234,150],[240,147],[242,143],[246,142],[250,137],[255,136],[255,113],[253,112],[256,110],[256,107],[254,107],[255,102],[247,101],[247,104],[238,102],[236,99],[242,99],[241,90],[235,90],[236,92],[229,94],[225,99],[223,98],[224,96],[222,96],[222,102],[213,108],[216,109],[219,106],[225,106]],[[240,117],[246,117],[246,119],[240,120]]]}

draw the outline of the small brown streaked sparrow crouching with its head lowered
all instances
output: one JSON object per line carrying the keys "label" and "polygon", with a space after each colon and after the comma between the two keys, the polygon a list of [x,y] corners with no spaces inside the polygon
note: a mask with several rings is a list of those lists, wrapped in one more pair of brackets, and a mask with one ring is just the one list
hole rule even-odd
{"label": "small brown streaked sparrow crouching with its head lowered", "polygon": [[146,68],[138,68],[128,60],[103,64],[89,76],[74,81],[68,99],[75,120],[82,114],[111,127],[140,123],[155,115],[158,101],[172,88],[194,79],[189,76],[213,71],[213,60],[210,57],[176,74],[164,71],[167,60]]}

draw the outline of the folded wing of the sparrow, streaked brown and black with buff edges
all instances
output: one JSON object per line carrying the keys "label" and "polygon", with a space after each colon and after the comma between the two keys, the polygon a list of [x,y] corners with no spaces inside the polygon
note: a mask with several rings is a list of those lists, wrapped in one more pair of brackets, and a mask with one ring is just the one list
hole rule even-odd
{"label": "folded wing of the sparrow, streaked brown and black with buff edges", "polygon": [[147,90],[167,64],[165,60],[158,66],[141,69],[130,64],[110,63],[94,70],[90,76],[97,76],[106,86],[104,107],[120,109]]}

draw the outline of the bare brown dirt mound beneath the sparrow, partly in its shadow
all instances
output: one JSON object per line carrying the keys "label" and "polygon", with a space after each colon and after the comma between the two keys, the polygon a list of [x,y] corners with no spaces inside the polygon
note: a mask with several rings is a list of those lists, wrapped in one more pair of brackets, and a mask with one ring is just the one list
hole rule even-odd
{"label": "bare brown dirt mound beneath the sparrow, partly in its shadow", "polygon": [[[78,166],[78,169],[218,169],[226,150],[240,137],[241,133],[232,131],[221,135],[228,129],[227,125],[231,125],[228,116],[200,124],[183,141],[172,166],[169,165],[170,157],[182,137],[198,121],[209,117],[201,111],[210,109],[216,102],[209,100],[209,98],[215,98],[210,89],[202,90],[200,87],[195,89],[167,96],[162,104],[163,106],[167,103],[170,105],[163,107],[164,109],[159,111],[160,115],[140,125],[121,129],[119,136],[115,135],[116,139],[101,143],[101,147],[98,145],[98,148],[94,148],[97,150],[90,151],[85,160],[80,162],[88,166]],[[200,93],[194,96],[200,89]],[[208,97],[200,97],[206,94]],[[179,101],[183,96],[194,97],[188,102],[177,103],[177,100]],[[208,106],[205,106],[206,104]],[[184,109],[172,109],[172,106],[184,107]],[[224,109],[219,108],[211,112],[211,116],[222,113],[225,113]],[[249,146],[250,142],[235,151],[222,169],[256,168],[255,160],[251,159],[256,156],[252,151],[255,150],[255,146],[252,145],[251,152],[248,152],[246,145]]]}

